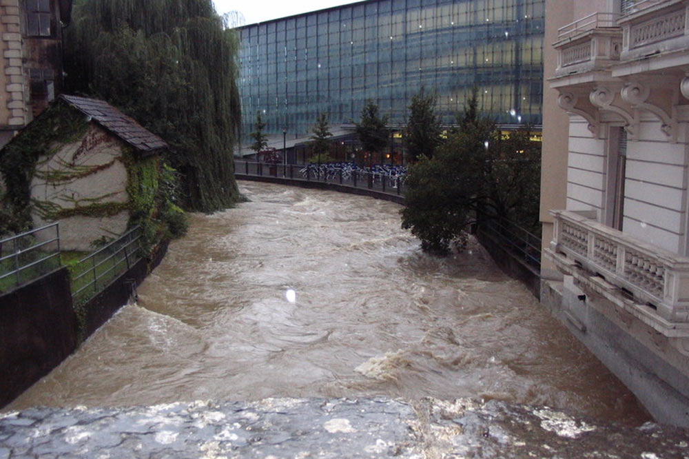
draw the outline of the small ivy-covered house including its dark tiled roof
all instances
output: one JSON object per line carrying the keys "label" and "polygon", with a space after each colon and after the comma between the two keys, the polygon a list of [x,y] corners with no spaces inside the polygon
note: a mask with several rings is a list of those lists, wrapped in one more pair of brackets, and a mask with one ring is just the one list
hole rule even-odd
{"label": "small ivy-covered house including its dark tiled roof", "polygon": [[8,179],[25,182],[24,190],[15,185],[10,192],[28,193],[34,227],[59,221],[61,249],[88,251],[125,232],[134,214],[153,216],[166,148],[104,101],[61,95],[0,150],[0,158],[34,161]]}

